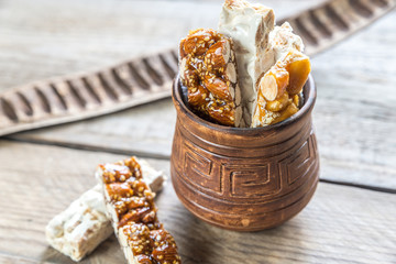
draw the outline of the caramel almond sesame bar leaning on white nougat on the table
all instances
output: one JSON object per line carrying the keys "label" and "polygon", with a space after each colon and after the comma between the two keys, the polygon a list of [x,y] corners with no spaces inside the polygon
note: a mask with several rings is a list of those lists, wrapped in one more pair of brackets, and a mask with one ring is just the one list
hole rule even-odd
{"label": "caramel almond sesame bar leaning on white nougat on the table", "polygon": [[107,216],[128,263],[182,263],[175,239],[158,221],[155,194],[142,180],[136,160],[99,165],[97,178],[103,189]]}

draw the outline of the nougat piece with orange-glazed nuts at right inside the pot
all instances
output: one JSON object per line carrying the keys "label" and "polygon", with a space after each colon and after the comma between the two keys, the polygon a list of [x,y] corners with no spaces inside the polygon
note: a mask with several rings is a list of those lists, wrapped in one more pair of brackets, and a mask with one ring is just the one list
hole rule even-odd
{"label": "nougat piece with orange-glazed nuts at right inside the pot", "polygon": [[[302,50],[302,41],[293,33],[289,23],[275,26],[270,33],[267,56],[273,57],[275,64],[262,74],[257,82],[252,128],[279,122],[298,111],[298,106],[290,101],[300,92],[310,72],[309,58],[301,53]],[[271,107],[267,103],[272,103]]]}

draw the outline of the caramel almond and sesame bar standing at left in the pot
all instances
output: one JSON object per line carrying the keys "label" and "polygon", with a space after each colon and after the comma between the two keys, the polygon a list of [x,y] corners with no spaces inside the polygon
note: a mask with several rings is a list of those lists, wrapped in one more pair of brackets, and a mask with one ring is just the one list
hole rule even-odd
{"label": "caramel almond and sesame bar standing at left in the pot", "polygon": [[182,40],[179,54],[190,108],[210,121],[239,127],[242,109],[231,38],[213,30],[191,31]]}

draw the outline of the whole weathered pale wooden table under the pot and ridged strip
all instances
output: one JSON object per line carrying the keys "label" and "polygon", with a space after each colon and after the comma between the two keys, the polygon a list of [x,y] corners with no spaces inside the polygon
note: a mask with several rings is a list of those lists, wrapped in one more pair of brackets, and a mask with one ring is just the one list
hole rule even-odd
{"label": "whole weathered pale wooden table under the pot and ridged strip", "polygon": [[[318,1],[266,1],[282,18]],[[97,69],[216,28],[212,1],[0,1],[0,89]],[[312,59],[321,182],[279,228],[239,233],[193,217],[172,184],[160,219],[184,263],[396,263],[396,12]],[[0,263],[73,263],[44,227],[95,184],[98,163],[139,155],[169,170],[170,99],[0,140]],[[125,263],[116,238],[82,263]]]}

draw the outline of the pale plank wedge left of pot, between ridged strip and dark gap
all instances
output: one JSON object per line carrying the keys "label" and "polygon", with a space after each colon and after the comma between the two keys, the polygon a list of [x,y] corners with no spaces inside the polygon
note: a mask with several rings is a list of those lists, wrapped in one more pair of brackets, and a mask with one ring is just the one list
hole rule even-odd
{"label": "pale plank wedge left of pot, between ridged strip and dark gap", "polygon": [[102,118],[23,132],[11,138],[169,157],[175,123],[173,102],[164,99]]}

